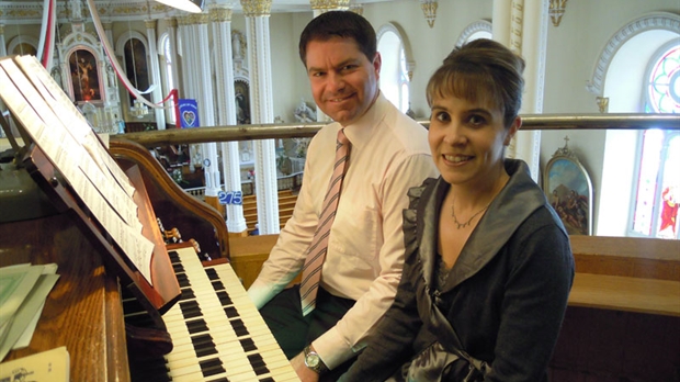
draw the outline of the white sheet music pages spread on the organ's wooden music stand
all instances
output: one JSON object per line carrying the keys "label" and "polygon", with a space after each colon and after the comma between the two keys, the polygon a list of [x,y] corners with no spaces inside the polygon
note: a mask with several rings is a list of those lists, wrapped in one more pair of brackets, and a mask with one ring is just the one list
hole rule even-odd
{"label": "white sheet music pages spread on the organ's wooden music stand", "polygon": [[[22,71],[15,61],[25,69]],[[33,56],[0,59],[1,97],[97,221],[152,284],[154,243],[141,235],[135,192],[87,120]],[[29,80],[31,79],[31,80]]]}

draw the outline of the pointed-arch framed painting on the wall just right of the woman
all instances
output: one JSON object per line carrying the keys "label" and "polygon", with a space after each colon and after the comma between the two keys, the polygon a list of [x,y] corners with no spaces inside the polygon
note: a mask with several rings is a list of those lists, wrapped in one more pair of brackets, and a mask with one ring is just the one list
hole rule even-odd
{"label": "pointed-arch framed painting on the wall just right of the woman", "polygon": [[567,233],[592,235],[592,183],[567,144],[553,154],[543,182],[543,190]]}

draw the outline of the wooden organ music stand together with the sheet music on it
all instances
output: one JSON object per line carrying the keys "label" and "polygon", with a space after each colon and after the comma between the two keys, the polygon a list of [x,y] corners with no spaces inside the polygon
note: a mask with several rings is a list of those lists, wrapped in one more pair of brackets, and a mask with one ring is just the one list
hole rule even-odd
{"label": "wooden organ music stand together with the sheet music on it", "polygon": [[102,249],[107,269],[149,313],[170,308],[179,285],[168,283],[174,272],[138,168],[123,170],[115,162],[35,56],[0,58],[0,89],[26,144],[22,164],[34,180],[59,212],[75,217]]}

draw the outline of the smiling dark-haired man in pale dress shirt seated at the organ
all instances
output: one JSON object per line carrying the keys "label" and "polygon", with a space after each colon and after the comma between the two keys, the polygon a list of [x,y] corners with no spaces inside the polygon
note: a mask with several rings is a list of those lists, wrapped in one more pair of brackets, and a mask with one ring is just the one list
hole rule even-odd
{"label": "smiling dark-haired man in pale dress shirt seated at the organ", "polygon": [[[248,293],[301,380],[317,381],[320,374],[335,380],[365,347],[396,294],[407,190],[438,172],[427,131],[379,92],[381,56],[365,19],[345,11],[322,13],[303,31],[299,55],[314,100],[335,123],[311,139],[293,216]],[[303,269],[317,226],[324,226],[339,131],[350,142],[349,168],[324,251],[316,305],[303,313],[305,282],[285,286]]]}

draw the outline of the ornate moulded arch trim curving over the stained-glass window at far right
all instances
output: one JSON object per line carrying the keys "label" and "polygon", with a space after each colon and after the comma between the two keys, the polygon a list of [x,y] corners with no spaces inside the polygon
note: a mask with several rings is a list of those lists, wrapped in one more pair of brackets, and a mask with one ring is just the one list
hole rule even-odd
{"label": "ornate moulded arch trim curving over the stained-glass window at far right", "polygon": [[680,34],[680,16],[668,12],[655,12],[633,20],[620,29],[604,44],[586,89],[596,96],[602,96],[607,70],[619,48],[639,33],[653,30],[665,30]]}

